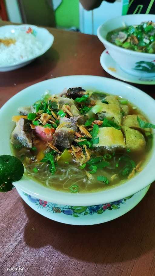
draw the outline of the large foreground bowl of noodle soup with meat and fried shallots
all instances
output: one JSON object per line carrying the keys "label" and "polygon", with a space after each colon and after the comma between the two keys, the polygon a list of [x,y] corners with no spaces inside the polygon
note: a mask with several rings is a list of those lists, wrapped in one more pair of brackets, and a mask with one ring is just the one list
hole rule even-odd
{"label": "large foreground bowl of noodle soup with meat and fried shallots", "polygon": [[24,176],[13,184],[32,197],[72,206],[120,200],[155,179],[154,107],[113,79],[39,82],[1,108],[0,154],[22,161]]}

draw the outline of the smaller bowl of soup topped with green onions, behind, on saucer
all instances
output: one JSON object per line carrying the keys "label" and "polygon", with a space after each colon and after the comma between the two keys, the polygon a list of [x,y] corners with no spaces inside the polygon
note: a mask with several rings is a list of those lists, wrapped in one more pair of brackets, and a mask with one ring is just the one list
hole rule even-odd
{"label": "smaller bowl of soup topped with green onions, behind, on saucer", "polygon": [[139,78],[155,76],[155,15],[124,15],[108,20],[97,36],[120,68]]}

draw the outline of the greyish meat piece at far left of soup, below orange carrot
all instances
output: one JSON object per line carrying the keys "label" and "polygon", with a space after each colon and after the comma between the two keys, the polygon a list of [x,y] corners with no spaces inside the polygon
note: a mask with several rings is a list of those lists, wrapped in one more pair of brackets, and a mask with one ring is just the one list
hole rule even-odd
{"label": "greyish meat piece at far left of soup, below orange carrot", "polygon": [[11,134],[11,143],[17,145],[20,142],[23,146],[31,149],[32,147],[31,127],[26,119],[21,118]]}

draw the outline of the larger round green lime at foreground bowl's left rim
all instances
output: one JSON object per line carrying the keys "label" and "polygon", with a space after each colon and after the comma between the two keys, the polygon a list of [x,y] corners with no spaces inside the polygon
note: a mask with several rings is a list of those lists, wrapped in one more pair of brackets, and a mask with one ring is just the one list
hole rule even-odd
{"label": "larger round green lime at foreground bowl's left rim", "polygon": [[21,179],[24,173],[23,163],[15,156],[0,156],[0,183]]}

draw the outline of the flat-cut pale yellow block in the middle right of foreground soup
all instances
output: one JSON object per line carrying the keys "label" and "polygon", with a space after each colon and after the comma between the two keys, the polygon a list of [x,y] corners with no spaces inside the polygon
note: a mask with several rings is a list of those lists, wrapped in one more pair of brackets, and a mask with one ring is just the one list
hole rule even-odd
{"label": "flat-cut pale yellow block in the middle right of foreground soup", "polygon": [[104,146],[107,149],[116,147],[126,148],[123,133],[112,126],[100,127],[97,137],[99,137],[99,143],[93,146]]}

